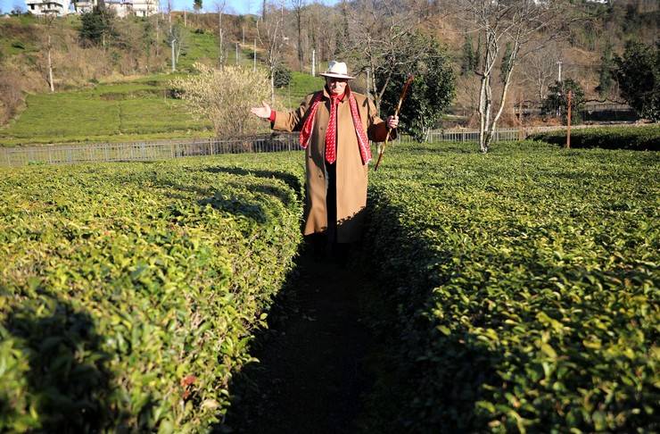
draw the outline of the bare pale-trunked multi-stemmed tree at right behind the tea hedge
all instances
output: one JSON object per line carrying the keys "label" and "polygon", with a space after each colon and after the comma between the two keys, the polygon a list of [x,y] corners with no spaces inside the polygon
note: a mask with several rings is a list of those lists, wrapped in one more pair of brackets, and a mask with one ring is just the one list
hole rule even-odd
{"label": "bare pale-trunked multi-stemmed tree at right behind the tea hedge", "polygon": [[[516,66],[526,54],[562,36],[570,20],[569,0],[460,0],[459,17],[483,36],[479,89],[479,148],[488,152]],[[541,37],[541,38],[540,38]],[[503,48],[507,50],[502,53]],[[505,54],[505,55],[503,55]],[[501,64],[499,100],[493,74]],[[497,104],[496,104],[497,103]]]}

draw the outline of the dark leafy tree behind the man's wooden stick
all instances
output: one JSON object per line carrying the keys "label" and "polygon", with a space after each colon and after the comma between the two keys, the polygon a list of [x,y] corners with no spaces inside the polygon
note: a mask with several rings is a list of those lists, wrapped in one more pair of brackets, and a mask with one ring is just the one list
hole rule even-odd
{"label": "dark leafy tree behind the man's wooden stick", "polygon": [[[414,74],[415,79],[401,106],[400,129],[421,142],[426,129],[440,120],[441,114],[451,103],[456,84],[450,61],[435,39],[416,33],[408,36],[407,40],[410,49],[420,55],[405,70],[398,69],[392,73],[383,95],[383,113],[394,113],[408,74]],[[384,76],[376,76],[378,86],[383,81]]]}

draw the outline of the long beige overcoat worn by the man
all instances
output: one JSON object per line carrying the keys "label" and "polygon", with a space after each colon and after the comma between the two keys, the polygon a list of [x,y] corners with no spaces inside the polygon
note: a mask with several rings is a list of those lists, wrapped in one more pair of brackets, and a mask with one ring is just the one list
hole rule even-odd
{"label": "long beige overcoat worn by the man", "polygon": [[[358,138],[351,117],[349,93],[337,106],[337,242],[357,241],[362,232],[364,208],[367,205],[368,165],[362,164],[359,154]],[[301,106],[290,113],[276,113],[273,129],[280,131],[300,131],[306,120],[310,103],[316,93],[309,94]],[[375,105],[367,96],[353,92],[359,110],[362,127],[367,136],[375,142],[382,142],[387,135],[385,122],[376,115]],[[326,128],[330,119],[330,96],[326,88],[319,103],[316,119],[312,128],[309,146],[305,150],[307,168],[305,229],[309,235],[327,230],[326,211],[326,165],[324,153],[326,147]],[[392,131],[393,133],[393,131]],[[393,137],[393,134],[392,134]],[[375,155],[377,156],[377,155]]]}

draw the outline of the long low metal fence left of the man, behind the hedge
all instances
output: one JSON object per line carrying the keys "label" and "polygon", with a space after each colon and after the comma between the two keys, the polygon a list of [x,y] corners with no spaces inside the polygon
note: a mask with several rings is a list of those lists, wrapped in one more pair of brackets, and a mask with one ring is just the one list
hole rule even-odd
{"label": "long low metal fence left of the man, behind the hedge", "polygon": [[0,148],[0,165],[153,161],[194,155],[281,152],[299,149],[298,136],[295,134],[231,140],[208,138],[70,146],[21,146]]}

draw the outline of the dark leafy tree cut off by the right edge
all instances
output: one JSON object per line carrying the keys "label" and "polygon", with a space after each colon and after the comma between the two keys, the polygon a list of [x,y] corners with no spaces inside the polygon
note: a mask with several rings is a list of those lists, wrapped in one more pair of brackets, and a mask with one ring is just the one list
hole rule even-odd
{"label": "dark leafy tree cut off by the right edge", "polygon": [[660,44],[628,42],[616,59],[621,95],[643,118],[660,121]]}

